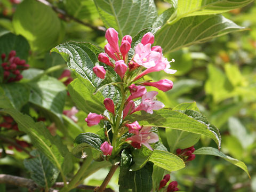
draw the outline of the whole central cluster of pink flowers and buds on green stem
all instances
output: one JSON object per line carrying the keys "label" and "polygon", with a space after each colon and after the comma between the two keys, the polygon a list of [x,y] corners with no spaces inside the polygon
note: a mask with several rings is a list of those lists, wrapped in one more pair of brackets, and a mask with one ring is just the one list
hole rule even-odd
{"label": "whole central cluster of pink flowers and buds on green stem", "polygon": [[[170,62],[163,57],[161,46],[152,46],[154,35],[150,32],[143,35],[141,42],[132,47],[132,37],[125,35],[119,46],[118,33],[115,29],[109,28],[105,35],[108,43],[105,46],[105,53],[98,55],[100,65],[93,67],[95,75],[105,79],[106,66],[114,69],[116,74],[121,78],[121,83],[116,84],[121,90],[122,100],[120,105],[110,98],[103,101],[109,116],[102,114],[89,113],[85,118],[88,126],[97,125],[101,120],[108,121],[112,125],[113,140],[104,142],[101,150],[104,155],[111,155],[112,150],[118,151],[119,143],[130,143],[134,148],[141,148],[142,145],[153,150],[150,143],[157,142],[158,135],[151,131],[151,127],[140,125],[137,121],[129,122],[127,116],[136,111],[146,111],[153,114],[153,110],[159,110],[164,104],[157,101],[157,91],[147,92],[146,86],[154,86],[161,91],[169,91],[173,87],[169,79],[161,79],[158,82],[141,81],[143,76],[154,71],[164,70],[168,74],[174,74],[176,70],[170,69]],[[129,54],[130,49],[134,49],[134,55]],[[173,62],[172,60],[171,62]],[[104,63],[106,66],[102,65]],[[108,67],[108,68],[109,68]],[[115,83],[115,82],[114,82]],[[130,93],[130,94],[129,94]],[[136,105],[136,100],[141,102]],[[122,131],[121,131],[122,130]],[[131,137],[121,140],[122,135],[129,132]],[[129,135],[129,134],[127,134]]]}

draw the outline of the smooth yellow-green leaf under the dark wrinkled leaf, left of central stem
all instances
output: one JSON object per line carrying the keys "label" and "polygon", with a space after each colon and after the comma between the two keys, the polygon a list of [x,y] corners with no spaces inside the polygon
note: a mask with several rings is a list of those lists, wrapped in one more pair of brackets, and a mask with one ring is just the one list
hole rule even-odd
{"label": "smooth yellow-green leaf under the dark wrinkled leaf, left of central stem", "polygon": [[68,91],[76,106],[86,113],[103,114],[106,110],[103,106],[102,94],[93,94],[95,88],[86,79],[76,78],[68,85]]}

